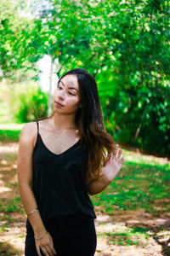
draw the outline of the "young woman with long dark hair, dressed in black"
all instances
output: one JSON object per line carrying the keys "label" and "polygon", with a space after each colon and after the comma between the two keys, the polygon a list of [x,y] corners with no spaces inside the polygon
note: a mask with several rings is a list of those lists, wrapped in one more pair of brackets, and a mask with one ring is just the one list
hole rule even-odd
{"label": "young woman with long dark hair, dressed in black", "polygon": [[112,182],[123,160],[122,148],[105,131],[94,77],[82,68],[65,73],[54,91],[53,116],[20,133],[25,255],[93,256],[96,215],[89,195]]}

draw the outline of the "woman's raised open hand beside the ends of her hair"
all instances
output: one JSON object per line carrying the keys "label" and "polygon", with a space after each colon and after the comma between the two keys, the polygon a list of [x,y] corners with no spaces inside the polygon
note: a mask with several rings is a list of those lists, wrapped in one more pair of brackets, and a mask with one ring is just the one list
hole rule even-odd
{"label": "woman's raised open hand beside the ends of her hair", "polygon": [[[118,151],[119,144],[116,144],[115,154],[113,154],[110,160],[107,161],[105,166],[102,167],[102,174],[107,178],[107,180],[111,183],[113,179],[116,177],[118,172],[122,168],[122,163],[124,161],[124,155],[122,156],[122,148]],[[118,154],[117,154],[118,151]]]}

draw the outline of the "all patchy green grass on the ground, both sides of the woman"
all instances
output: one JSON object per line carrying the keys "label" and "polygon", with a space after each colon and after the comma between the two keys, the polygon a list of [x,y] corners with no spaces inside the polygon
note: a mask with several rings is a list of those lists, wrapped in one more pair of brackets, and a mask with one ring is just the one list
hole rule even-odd
{"label": "all patchy green grass on the ground, both sides of the woman", "polygon": [[[0,125],[0,140],[3,143],[18,142],[20,127],[10,124]],[[94,209],[96,212],[107,213],[113,219],[116,213],[120,212],[121,216],[122,212],[126,214],[128,211],[132,211],[132,214],[135,214],[135,211],[139,209],[148,212],[153,218],[155,216],[162,218],[164,212],[170,212],[170,163],[151,155],[137,154],[125,149],[123,149],[123,153],[125,161],[115,180],[103,192],[90,196]],[[13,166],[16,154],[3,153],[3,160],[7,161],[7,166]],[[8,175],[14,177],[16,169],[7,168],[1,173],[7,177]],[[6,181],[5,186],[14,191],[18,190],[18,184],[14,181],[11,182],[10,179]],[[11,217],[13,212],[25,213],[20,196],[16,194],[12,199],[1,199],[0,211],[3,222],[0,230],[2,233],[7,232],[8,227],[16,221]],[[169,226],[159,225],[150,228],[140,223],[125,226],[121,224],[121,217],[119,221],[119,224],[112,224],[112,230],[99,232],[98,237],[106,237],[111,246],[145,248],[148,244],[153,244],[154,236],[159,240],[159,232],[163,232],[163,235],[160,235],[161,238],[162,236],[166,238],[166,232],[170,230]],[[23,236],[20,234],[21,238]],[[167,253],[169,252],[169,247],[164,246],[164,249]],[[16,255],[14,247],[9,247],[8,243],[0,244],[1,253],[2,255]]]}

